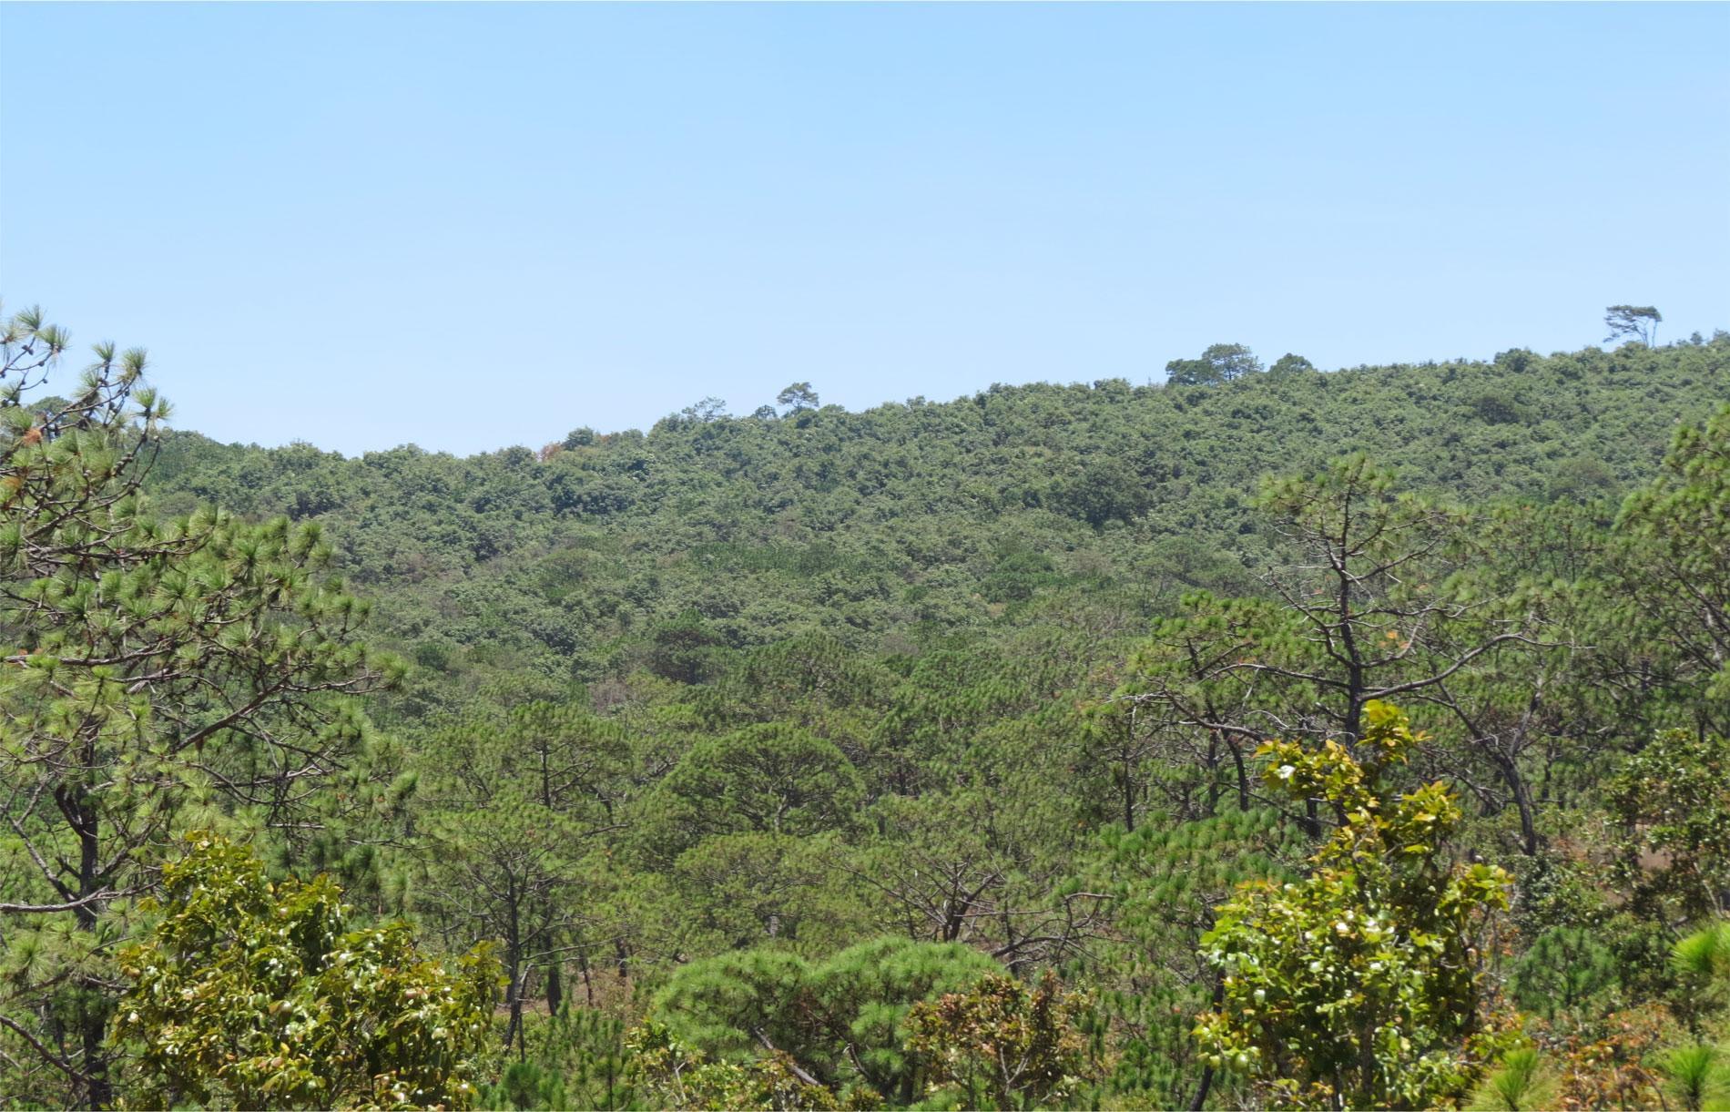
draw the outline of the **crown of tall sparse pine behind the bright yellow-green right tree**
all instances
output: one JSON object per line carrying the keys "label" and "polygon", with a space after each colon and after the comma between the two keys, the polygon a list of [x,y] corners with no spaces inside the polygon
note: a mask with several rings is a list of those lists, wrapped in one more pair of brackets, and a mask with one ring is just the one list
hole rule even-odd
{"label": "crown of tall sparse pine behind the bright yellow-green right tree", "polygon": [[[1168,763],[1189,775],[1173,785],[1189,794],[1180,813],[1211,813],[1227,778],[1247,806],[1244,754],[1275,725],[1353,740],[1370,700],[1406,695],[1500,782],[1493,806],[1512,804],[1521,847],[1536,854],[1524,757],[1557,725],[1531,695],[1569,647],[1567,631],[1550,628],[1547,591],[1524,571],[1498,571],[1490,521],[1401,489],[1362,453],[1268,479],[1258,505],[1289,543],[1266,572],[1272,598],[1187,597],[1112,700],[1183,756]],[[1315,802],[1304,806],[1313,834]]]}

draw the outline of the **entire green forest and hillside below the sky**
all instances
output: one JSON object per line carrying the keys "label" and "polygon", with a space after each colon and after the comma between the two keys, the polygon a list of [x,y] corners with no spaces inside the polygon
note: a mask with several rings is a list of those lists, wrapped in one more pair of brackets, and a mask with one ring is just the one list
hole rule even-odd
{"label": "entire green forest and hillside below the sky", "polygon": [[16,313],[0,1102],[1730,1107],[1659,320],[344,458]]}

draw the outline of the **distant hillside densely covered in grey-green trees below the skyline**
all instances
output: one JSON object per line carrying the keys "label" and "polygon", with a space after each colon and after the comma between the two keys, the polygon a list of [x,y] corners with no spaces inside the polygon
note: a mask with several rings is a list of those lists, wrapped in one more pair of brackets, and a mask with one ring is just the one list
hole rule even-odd
{"label": "distant hillside densely covered in grey-green trees below the skyline", "polygon": [[1033,616],[1052,605],[1145,624],[1189,590],[1254,593],[1278,548],[1261,479],[1351,451],[1469,503],[1616,500],[1723,399],[1725,358],[1720,337],[1332,374],[1296,360],[1209,387],[995,386],[865,413],[699,405],[647,434],[471,458],[170,432],[151,489],[163,512],[320,522],[381,604],[375,629],[432,673],[689,681],[711,649],[817,631],[894,655],[1060,624]]}

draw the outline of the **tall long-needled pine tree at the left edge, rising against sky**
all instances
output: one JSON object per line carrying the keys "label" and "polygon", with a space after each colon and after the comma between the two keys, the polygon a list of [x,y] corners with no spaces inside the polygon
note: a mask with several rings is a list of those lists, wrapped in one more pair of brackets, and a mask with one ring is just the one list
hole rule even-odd
{"label": "tall long-needled pine tree at the left edge, rising against sky", "polygon": [[[142,351],[97,344],[66,399],[33,401],[67,348],[40,311],[0,337],[0,994],[14,1098],[107,1105],[111,951],[189,816],[279,830],[308,785],[365,766],[337,695],[396,674],[356,640],[367,607],[325,578],[315,526],[218,510],[151,517],[140,479],[166,403]],[[28,955],[28,956],[24,956]]]}

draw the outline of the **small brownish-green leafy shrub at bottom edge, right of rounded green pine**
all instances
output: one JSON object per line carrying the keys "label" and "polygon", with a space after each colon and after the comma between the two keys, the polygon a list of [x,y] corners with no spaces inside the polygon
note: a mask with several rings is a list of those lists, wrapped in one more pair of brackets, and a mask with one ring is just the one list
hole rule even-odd
{"label": "small brownish-green leafy shrub at bottom edge, right of rounded green pine", "polygon": [[927,1088],[939,1100],[953,1095],[957,1107],[1062,1107],[1093,1072],[1076,1027],[1085,1007],[1050,972],[1031,991],[991,975],[913,1005],[907,1050],[927,1062]]}

